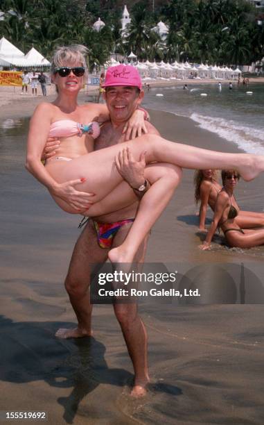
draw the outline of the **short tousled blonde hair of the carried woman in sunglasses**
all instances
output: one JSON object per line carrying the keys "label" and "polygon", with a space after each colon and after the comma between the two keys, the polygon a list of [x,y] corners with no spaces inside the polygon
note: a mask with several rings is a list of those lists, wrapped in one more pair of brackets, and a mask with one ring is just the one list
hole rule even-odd
{"label": "short tousled blonde hair of the carried woman in sunglasses", "polygon": [[80,63],[82,67],[87,69],[85,56],[88,49],[82,44],[71,44],[71,46],[57,47],[51,60],[51,74],[54,74],[56,68],[64,67],[65,63],[75,65]]}

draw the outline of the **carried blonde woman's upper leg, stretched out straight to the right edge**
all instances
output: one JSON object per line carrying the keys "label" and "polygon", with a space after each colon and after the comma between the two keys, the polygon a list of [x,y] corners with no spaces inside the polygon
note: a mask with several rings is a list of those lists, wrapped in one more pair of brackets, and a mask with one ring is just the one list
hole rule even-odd
{"label": "carried blonde woman's upper leg, stretched out straight to the right edge", "polygon": [[[132,142],[116,144],[100,149],[71,161],[52,161],[47,167],[58,183],[87,178],[76,188],[82,192],[94,192],[94,201],[100,201],[107,196],[122,178],[114,165],[114,158],[124,148],[129,148],[136,160],[146,151],[147,163],[165,162],[189,169],[230,169],[235,168],[245,178],[251,180],[264,171],[264,156],[254,156],[247,153],[222,153],[168,142],[158,135],[143,135]],[[59,164],[60,163],[60,164]],[[67,204],[58,201],[62,209],[69,213],[76,210],[67,208]],[[114,199],[113,199],[114,201]],[[66,208],[65,208],[66,204]]]}

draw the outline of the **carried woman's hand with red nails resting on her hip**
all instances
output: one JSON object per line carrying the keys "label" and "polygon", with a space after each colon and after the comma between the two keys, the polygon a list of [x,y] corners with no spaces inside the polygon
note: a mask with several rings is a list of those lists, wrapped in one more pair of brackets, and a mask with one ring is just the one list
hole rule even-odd
{"label": "carried woman's hand with red nails resting on her hip", "polygon": [[56,197],[67,202],[69,206],[74,208],[76,211],[82,212],[88,210],[94,203],[94,193],[80,192],[75,188],[76,185],[80,185],[80,183],[84,183],[85,181],[86,178],[66,181],[65,183],[56,185],[51,192]]}

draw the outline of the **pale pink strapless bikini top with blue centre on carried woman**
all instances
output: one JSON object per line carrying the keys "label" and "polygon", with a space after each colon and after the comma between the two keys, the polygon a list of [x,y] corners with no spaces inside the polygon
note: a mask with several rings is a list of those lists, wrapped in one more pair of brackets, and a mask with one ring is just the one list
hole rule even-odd
{"label": "pale pink strapless bikini top with blue centre on carried woman", "polygon": [[71,119],[60,119],[53,122],[49,130],[49,138],[68,138],[76,134],[80,137],[83,134],[89,134],[92,138],[96,139],[100,135],[100,126],[95,121],[85,125]]}

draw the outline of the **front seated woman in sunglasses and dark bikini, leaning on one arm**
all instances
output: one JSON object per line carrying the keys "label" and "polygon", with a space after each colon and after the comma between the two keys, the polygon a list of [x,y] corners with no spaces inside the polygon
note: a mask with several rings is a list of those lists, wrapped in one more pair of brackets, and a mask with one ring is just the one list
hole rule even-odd
{"label": "front seated woman in sunglasses and dark bikini, leaning on one arm", "polygon": [[[222,171],[223,188],[214,204],[213,222],[200,249],[209,249],[213,235],[220,226],[231,247],[252,248],[264,244],[264,228],[243,230],[237,223],[239,208],[234,189],[240,175],[234,169]],[[243,217],[241,218],[243,220]]]}

